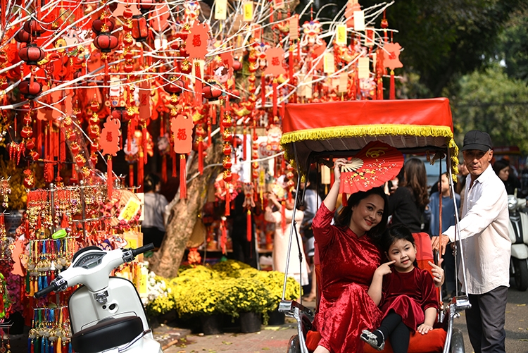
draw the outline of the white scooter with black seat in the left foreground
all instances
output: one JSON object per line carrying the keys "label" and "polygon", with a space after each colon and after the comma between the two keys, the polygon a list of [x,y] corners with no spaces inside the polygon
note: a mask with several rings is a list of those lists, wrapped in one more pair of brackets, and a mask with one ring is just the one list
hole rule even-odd
{"label": "white scooter with black seat in the left foreground", "polygon": [[99,247],[85,247],[75,253],[70,267],[35,293],[35,297],[43,297],[82,285],[68,302],[75,352],[162,353],[134,285],[125,278],[109,277],[114,268],[153,248],[148,244],[106,252]]}

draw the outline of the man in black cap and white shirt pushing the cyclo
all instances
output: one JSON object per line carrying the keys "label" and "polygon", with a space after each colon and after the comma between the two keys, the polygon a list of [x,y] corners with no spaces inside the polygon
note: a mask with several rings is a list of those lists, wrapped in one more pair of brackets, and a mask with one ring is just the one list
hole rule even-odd
{"label": "man in black cap and white shirt pushing the cyclo", "polygon": [[[508,195],[490,162],[494,151],[491,137],[479,130],[467,132],[462,148],[470,172],[466,180],[460,240],[465,273],[459,267],[458,279],[467,287],[471,309],[465,311],[467,332],[475,353],[505,352],[505,309],[510,282],[511,242],[508,235]],[[433,247],[455,241],[455,226],[434,238]]]}

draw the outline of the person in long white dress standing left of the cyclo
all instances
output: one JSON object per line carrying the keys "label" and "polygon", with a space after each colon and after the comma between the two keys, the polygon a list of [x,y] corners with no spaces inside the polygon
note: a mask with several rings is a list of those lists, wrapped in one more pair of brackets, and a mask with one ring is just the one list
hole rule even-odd
{"label": "person in long white dress standing left of the cyclo", "polygon": [[[284,189],[282,187],[274,187],[275,192],[268,194],[268,205],[265,207],[264,219],[267,222],[275,224],[275,235],[273,237],[273,269],[282,273],[286,273],[286,261],[288,258],[288,244],[291,232],[291,218],[294,216],[294,200],[282,194]],[[280,192],[279,192],[280,190]],[[281,193],[277,196],[277,192]],[[282,199],[279,202],[278,197]],[[281,203],[284,203],[282,205]],[[275,206],[277,211],[273,211],[272,206]],[[283,209],[284,207],[284,209]],[[284,215],[282,214],[284,212]],[[299,228],[303,221],[303,211],[295,211],[296,229],[294,229],[294,237],[291,240],[291,249],[289,252],[289,264],[287,275],[295,278],[301,285],[308,285],[308,264],[306,263],[306,256],[304,252],[303,240]],[[296,238],[297,239],[296,239]],[[298,246],[297,246],[298,243]],[[301,252],[301,259],[299,259],[299,247]]]}

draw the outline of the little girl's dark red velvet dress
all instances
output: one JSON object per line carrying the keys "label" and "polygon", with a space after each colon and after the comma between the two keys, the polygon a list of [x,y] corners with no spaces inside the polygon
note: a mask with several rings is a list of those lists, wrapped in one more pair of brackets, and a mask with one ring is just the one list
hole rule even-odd
{"label": "little girl's dark red velvet dress", "polygon": [[424,323],[425,309],[436,308],[436,287],[427,270],[413,268],[412,271],[401,273],[394,268],[392,273],[383,276],[382,302],[379,306],[384,317],[390,310],[400,315],[403,323],[415,332],[418,325]]}

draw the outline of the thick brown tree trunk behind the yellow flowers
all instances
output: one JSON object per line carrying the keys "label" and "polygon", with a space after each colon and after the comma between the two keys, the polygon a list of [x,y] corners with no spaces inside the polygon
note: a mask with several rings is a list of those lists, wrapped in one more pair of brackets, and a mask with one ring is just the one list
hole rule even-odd
{"label": "thick brown tree trunk behind the yellow flowers", "polygon": [[[207,155],[206,161],[208,163],[204,161],[205,166],[210,163],[221,162],[222,147],[218,144],[215,146],[213,142],[207,149]],[[191,163],[187,179],[198,171],[197,156]],[[172,206],[169,223],[165,227],[167,229],[165,239],[163,239],[163,243],[158,252],[151,259],[151,271],[156,273],[156,275],[161,275],[165,278],[177,276],[187,241],[191,237],[194,223],[196,223],[203,204],[206,202],[208,187],[212,186],[211,182],[220,173],[219,168],[221,166],[204,168],[203,175],[199,175],[187,183],[187,199],[179,199]],[[175,197],[179,198],[180,192]]]}

